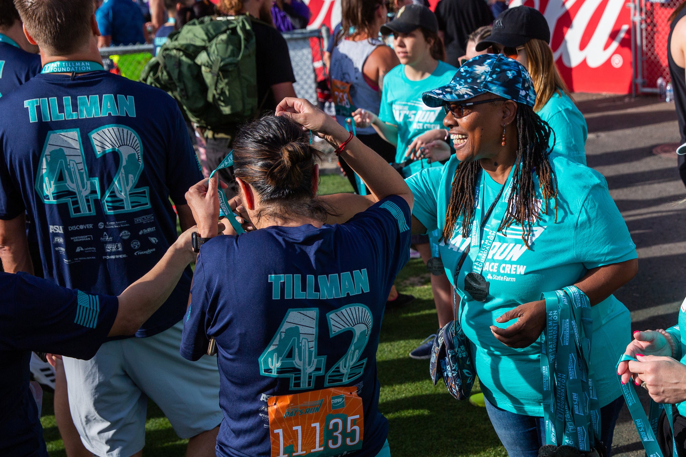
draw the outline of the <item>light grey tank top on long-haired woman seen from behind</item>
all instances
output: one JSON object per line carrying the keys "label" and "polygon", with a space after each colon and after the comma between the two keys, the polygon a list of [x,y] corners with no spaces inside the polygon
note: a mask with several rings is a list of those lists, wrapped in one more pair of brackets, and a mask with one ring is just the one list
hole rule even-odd
{"label": "light grey tank top on long-haired woman seen from behind", "polygon": [[[341,40],[331,53],[331,92],[336,108],[336,121],[345,125],[357,108],[379,114],[381,93],[364,79],[364,63],[369,55],[383,45],[381,40]],[[374,127],[357,129],[357,134],[375,134]]]}

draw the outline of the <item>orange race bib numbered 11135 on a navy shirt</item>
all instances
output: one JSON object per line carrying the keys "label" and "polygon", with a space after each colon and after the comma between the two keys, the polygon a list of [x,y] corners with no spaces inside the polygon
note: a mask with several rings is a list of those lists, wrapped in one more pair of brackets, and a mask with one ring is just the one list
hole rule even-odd
{"label": "orange race bib numbered 11135 on a navy shirt", "polygon": [[364,415],[357,387],[270,397],[272,457],[342,456],[362,449]]}

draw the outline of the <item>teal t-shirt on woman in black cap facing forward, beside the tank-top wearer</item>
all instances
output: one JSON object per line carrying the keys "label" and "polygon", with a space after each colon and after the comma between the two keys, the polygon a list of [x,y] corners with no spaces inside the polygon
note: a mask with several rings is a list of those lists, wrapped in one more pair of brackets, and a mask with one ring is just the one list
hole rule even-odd
{"label": "teal t-shirt on woman in black cap facing forward, beside the tank-top wearer", "polygon": [[[395,154],[397,163],[405,162],[407,147],[418,135],[433,129],[442,129],[445,112],[443,108],[429,108],[422,101],[422,94],[448,84],[458,71],[454,66],[438,61],[434,73],[421,81],[412,81],[405,75],[405,65],[398,65],[383,77],[383,92],[379,119],[398,126],[398,145]],[[424,159],[405,166],[403,175],[410,176],[417,171],[442,166],[440,162],[429,164]]]}

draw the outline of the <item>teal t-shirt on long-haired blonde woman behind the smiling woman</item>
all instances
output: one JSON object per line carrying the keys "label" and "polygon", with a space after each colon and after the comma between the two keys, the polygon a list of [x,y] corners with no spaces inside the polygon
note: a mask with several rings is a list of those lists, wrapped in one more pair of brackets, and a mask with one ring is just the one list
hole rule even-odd
{"label": "teal t-shirt on long-haired blonde woman behind the smiling woman", "polygon": [[581,114],[579,108],[576,108],[574,102],[564,92],[558,90],[537,114],[555,132],[554,146],[553,136],[550,136],[553,152],[585,165],[586,138],[589,135],[589,129],[584,115]]}

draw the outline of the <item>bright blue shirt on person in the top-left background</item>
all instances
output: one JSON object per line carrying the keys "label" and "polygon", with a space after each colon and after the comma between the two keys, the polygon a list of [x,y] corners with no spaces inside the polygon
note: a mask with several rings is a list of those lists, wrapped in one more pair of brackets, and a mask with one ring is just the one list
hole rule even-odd
{"label": "bright blue shirt on person in the top-left background", "polygon": [[95,11],[97,28],[103,36],[112,37],[112,45],[145,43],[141,8],[131,0],[105,0]]}

